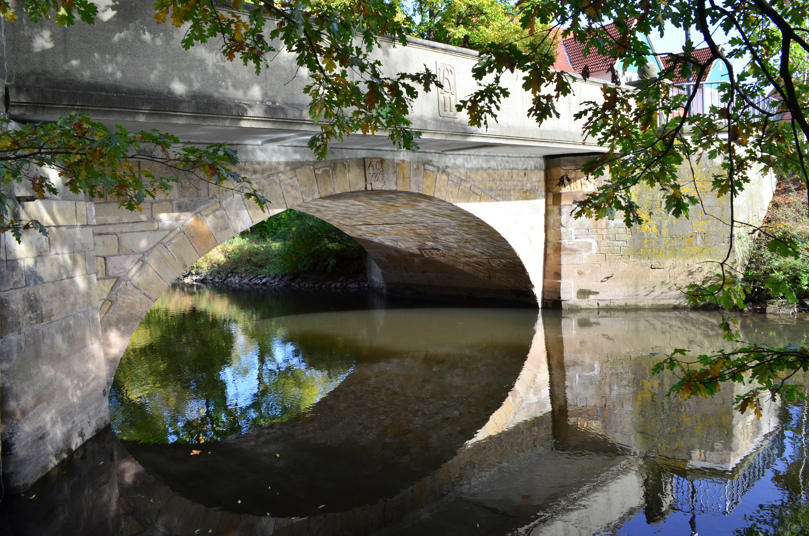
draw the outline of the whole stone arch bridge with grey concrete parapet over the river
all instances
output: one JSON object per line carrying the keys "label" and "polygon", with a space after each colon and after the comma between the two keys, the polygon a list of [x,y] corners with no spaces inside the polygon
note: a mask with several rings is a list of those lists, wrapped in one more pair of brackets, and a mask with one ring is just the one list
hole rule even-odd
{"label": "whole stone arch bridge with grey concrete parapet over the river", "polygon": [[[140,212],[61,191],[40,201],[18,188],[19,212],[49,237],[4,236],[0,254],[2,470],[12,491],[29,487],[109,422],[107,392],[118,360],[151,304],[201,255],[286,208],[354,236],[380,291],[517,300],[567,308],[682,304],[678,285],[723,257],[728,206],[711,198],[711,166],[696,187],[706,214],[665,217],[653,192],[638,199],[642,228],[572,219],[573,202],[597,183],[576,171],[601,149],[582,140],[573,114],[600,83],[578,80],[542,127],[527,118],[520,76],[489,130],[469,127],[454,104],[475,83],[477,54],[413,40],[383,42],[392,69],[422,65],[451,80],[422,95],[413,126],[421,151],[395,151],[383,136],[354,135],[317,161],[306,147],[307,74],[279,54],[271,69],[222,62],[214,46],[186,52],[182,28],[156,25],[150,4],[121,2],[93,26],[6,23],[6,113],[52,121],[83,112],[131,130],[158,128],[188,143],[228,142],[271,204],[231,189],[184,181]],[[569,184],[560,181],[566,174]],[[564,185],[561,185],[564,184]],[[736,214],[757,223],[772,177],[755,177]],[[717,218],[714,218],[716,216]]]}

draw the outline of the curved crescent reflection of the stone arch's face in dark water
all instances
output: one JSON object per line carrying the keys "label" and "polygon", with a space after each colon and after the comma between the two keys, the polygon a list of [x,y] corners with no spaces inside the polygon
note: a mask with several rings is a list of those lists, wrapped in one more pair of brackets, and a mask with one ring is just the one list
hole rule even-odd
{"label": "curved crescent reflection of the stone arch's face in dark water", "polygon": [[[134,516],[180,532],[190,526],[217,531],[215,534],[366,534],[384,525],[396,523],[427,504],[438,500],[453,483],[468,480],[475,474],[495,466],[503,453],[522,452],[547,441],[550,434],[548,373],[544,352],[544,334],[541,319],[536,323],[527,359],[519,377],[506,397],[506,401],[489,421],[469,440],[460,452],[428,476],[405,487],[396,495],[375,503],[352,508],[345,512],[309,517],[271,517],[251,514],[237,515],[218,508],[205,508],[199,503],[176,494],[170,487],[159,483],[123,448],[116,449],[119,473],[124,475],[127,491],[125,501],[133,508]],[[537,434],[537,431],[542,433]],[[188,450],[188,445],[184,448]],[[148,499],[147,499],[148,497]],[[154,508],[152,500],[165,506]],[[126,515],[125,515],[126,517]]]}

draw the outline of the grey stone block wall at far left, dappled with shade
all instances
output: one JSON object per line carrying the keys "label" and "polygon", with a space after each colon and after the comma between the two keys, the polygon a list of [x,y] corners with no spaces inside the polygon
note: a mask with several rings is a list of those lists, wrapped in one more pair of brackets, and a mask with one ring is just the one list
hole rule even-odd
{"label": "grey stone block wall at far left, dappled with shade", "polygon": [[108,424],[95,297],[94,204],[23,202],[48,229],[2,236],[0,390],[6,492],[28,487]]}

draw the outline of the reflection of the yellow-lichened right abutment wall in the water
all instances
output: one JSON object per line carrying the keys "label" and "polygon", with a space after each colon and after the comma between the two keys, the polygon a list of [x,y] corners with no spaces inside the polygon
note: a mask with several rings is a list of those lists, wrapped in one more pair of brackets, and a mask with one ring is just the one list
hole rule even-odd
{"label": "reflection of the yellow-lichened right abutment wall in the water", "polygon": [[567,418],[579,428],[689,467],[730,470],[777,426],[775,404],[765,404],[761,419],[733,409],[743,386],[683,401],[666,396],[671,374],[652,375],[675,348],[696,354],[728,346],[713,327],[714,315],[574,313],[551,323],[564,341]]}

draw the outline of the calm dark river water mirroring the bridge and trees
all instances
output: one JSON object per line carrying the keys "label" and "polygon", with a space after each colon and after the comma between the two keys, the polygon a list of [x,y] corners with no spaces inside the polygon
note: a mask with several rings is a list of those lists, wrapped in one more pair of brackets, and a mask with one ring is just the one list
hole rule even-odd
{"label": "calm dark river water mirroring the bridge and trees", "polygon": [[[809,321],[744,315],[752,342]],[[718,315],[561,313],[172,287],[121,359],[112,427],[2,534],[768,534],[809,525],[807,405],[666,396]],[[779,533],[780,534],[780,533]],[[798,532],[784,534],[798,534]]]}

